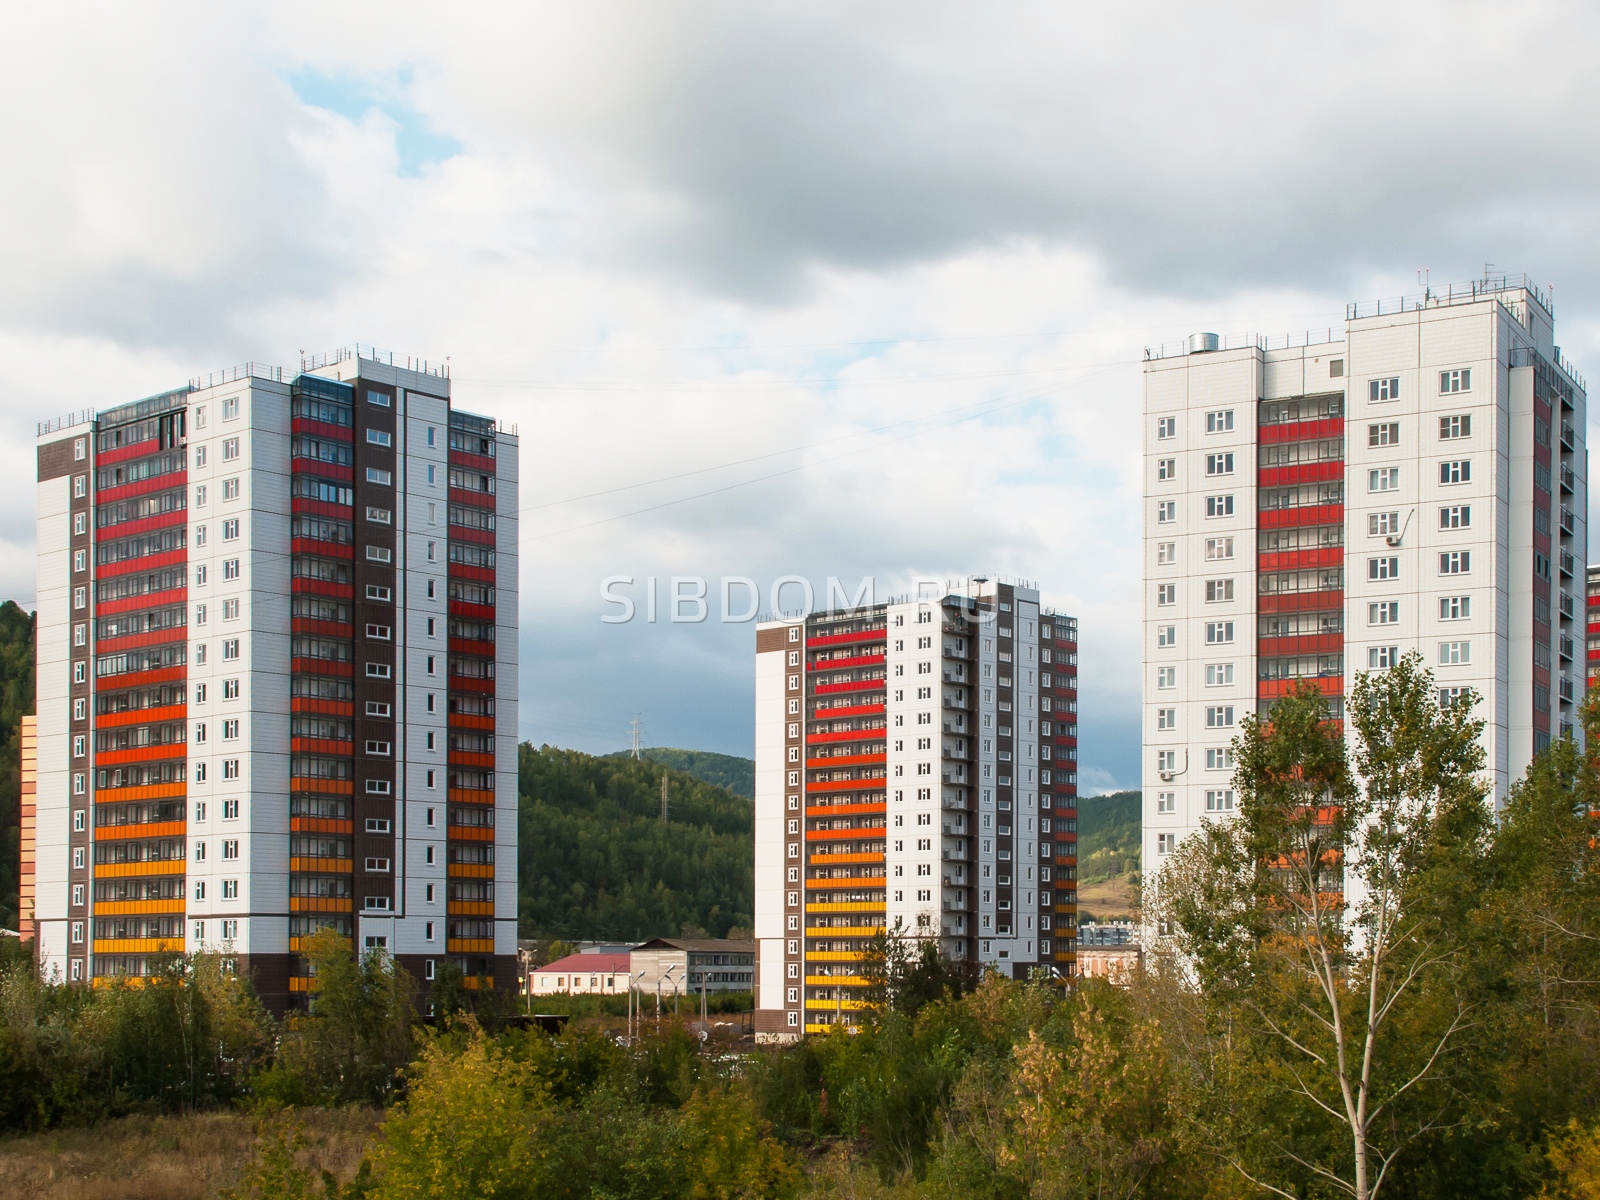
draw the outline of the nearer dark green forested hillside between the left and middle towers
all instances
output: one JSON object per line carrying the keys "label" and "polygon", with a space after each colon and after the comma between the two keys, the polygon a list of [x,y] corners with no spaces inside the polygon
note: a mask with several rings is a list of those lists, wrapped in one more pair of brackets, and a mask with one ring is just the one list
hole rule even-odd
{"label": "nearer dark green forested hillside between the left and middle towers", "polygon": [[749,800],[629,757],[523,744],[517,766],[523,938],[725,938],[750,928]]}

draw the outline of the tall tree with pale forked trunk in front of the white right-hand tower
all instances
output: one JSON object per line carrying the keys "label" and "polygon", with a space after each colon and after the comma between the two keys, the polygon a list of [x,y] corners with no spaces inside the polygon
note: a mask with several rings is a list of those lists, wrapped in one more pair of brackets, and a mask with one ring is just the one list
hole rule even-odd
{"label": "tall tree with pale forked trunk in front of the white right-hand tower", "polygon": [[1474,702],[1440,709],[1416,654],[1358,675],[1352,765],[1314,688],[1278,701],[1235,742],[1238,819],[1162,870],[1158,918],[1248,1032],[1258,1078],[1304,1106],[1262,1139],[1264,1163],[1234,1158],[1274,1194],[1320,1181],[1371,1200],[1446,1122],[1488,834]]}

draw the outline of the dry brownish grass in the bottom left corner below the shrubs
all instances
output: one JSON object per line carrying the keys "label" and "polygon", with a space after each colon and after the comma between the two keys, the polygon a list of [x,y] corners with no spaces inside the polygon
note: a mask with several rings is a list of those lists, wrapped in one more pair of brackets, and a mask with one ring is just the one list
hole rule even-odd
{"label": "dry brownish grass in the bottom left corner below the shrubs", "polygon": [[[304,1158],[339,1181],[355,1174],[376,1109],[315,1109]],[[14,1200],[210,1200],[238,1181],[262,1120],[246,1114],[123,1117],[91,1130],[0,1139],[0,1197]]]}

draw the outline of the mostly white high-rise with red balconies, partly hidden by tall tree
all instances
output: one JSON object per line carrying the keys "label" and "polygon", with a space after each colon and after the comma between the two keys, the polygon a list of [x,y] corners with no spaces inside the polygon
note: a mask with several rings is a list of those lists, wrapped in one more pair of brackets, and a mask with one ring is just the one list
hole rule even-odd
{"label": "mostly white high-rise with red balconies, partly hidden by tall tree", "polygon": [[[1310,344],[1306,344],[1309,341]],[[1586,395],[1547,298],[1483,278],[1325,341],[1144,363],[1144,867],[1234,811],[1245,714],[1421,651],[1482,698],[1494,803],[1576,725]]]}

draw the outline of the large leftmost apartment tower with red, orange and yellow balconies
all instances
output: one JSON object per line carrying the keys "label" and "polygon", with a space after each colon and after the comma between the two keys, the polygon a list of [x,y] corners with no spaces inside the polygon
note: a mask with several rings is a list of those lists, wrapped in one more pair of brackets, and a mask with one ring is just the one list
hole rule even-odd
{"label": "large leftmost apartment tower with red, orange and yellow balconies", "polygon": [[[517,437],[365,347],[38,429],[37,954],[515,979]],[[424,982],[426,986],[426,982]]]}

